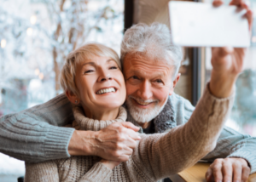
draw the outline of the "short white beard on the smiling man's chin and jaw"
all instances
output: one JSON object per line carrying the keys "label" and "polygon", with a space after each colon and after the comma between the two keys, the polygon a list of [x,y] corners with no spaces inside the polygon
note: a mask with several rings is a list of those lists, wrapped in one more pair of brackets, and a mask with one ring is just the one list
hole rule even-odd
{"label": "short white beard on the smiling man's chin and jaw", "polygon": [[[153,109],[142,109],[142,108],[138,108],[137,105],[134,105],[132,100],[140,100],[142,102],[153,102],[154,101],[154,108]],[[168,98],[166,98],[166,102],[167,102]],[[128,107],[128,111],[131,114],[131,117],[133,117],[133,119],[138,122],[138,123],[145,123],[145,122],[150,122],[152,119],[154,119],[155,117],[157,117],[161,111],[163,111],[166,102],[164,105],[160,106],[158,105],[159,100],[141,100],[141,99],[137,99],[134,98],[132,96],[128,96],[127,100],[126,100],[126,105]]]}

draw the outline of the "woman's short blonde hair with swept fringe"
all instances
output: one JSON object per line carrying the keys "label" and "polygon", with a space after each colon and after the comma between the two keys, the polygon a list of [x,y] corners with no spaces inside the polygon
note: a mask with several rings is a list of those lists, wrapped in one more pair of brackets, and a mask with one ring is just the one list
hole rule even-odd
{"label": "woman's short blonde hair with swept fringe", "polygon": [[101,43],[87,43],[84,46],[73,50],[67,55],[65,65],[61,70],[61,88],[66,92],[67,90],[79,96],[79,90],[75,83],[76,65],[83,60],[93,59],[94,56],[110,57],[116,61],[121,70],[121,63],[119,55],[112,48],[102,45]]}

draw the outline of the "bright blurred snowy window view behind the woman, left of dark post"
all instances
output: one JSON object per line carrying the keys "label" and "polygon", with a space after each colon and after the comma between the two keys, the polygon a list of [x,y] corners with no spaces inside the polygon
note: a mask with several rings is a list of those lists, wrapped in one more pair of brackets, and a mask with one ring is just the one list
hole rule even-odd
{"label": "bright blurred snowy window view behind the woman, left of dark post", "polygon": [[[98,42],[119,54],[123,0],[0,0],[0,117],[60,94],[65,57]],[[17,181],[24,162],[0,153],[0,181]]]}

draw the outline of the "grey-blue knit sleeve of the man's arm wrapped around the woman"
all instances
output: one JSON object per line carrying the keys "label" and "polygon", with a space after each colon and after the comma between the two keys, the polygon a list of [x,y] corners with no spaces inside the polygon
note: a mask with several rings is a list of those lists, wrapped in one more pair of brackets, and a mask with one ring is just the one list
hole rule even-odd
{"label": "grey-blue knit sleeve of the man's arm wrapped around the woman", "polygon": [[16,114],[0,118],[0,152],[26,162],[68,157],[73,128],[72,106],[64,94]]}

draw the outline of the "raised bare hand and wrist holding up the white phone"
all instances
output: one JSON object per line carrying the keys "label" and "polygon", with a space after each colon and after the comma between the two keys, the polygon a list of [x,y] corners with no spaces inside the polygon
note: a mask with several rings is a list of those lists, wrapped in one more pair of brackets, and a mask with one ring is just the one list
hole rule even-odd
{"label": "raised bare hand and wrist holding up the white phone", "polygon": [[[215,0],[214,6],[223,4],[221,0]],[[230,5],[236,5],[246,9],[245,17],[248,21],[248,31],[251,31],[253,12],[248,8],[244,0],[233,0]],[[233,92],[233,86],[238,74],[242,71],[242,65],[246,54],[246,48],[212,48],[212,76],[210,91],[218,98],[229,97]]]}

